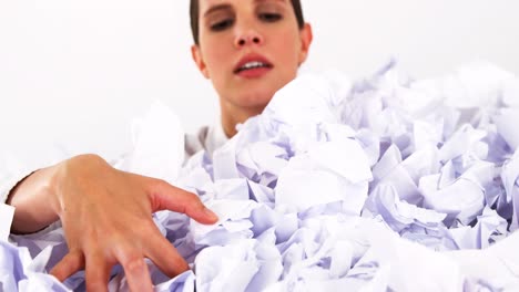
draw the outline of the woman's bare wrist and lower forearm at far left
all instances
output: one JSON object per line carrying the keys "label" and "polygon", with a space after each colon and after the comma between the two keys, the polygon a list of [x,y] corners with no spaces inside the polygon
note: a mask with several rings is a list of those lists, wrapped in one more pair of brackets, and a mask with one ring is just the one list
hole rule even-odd
{"label": "woman's bare wrist and lower forearm at far left", "polygon": [[10,192],[7,204],[16,207],[13,233],[31,233],[59,220],[55,197],[58,165],[34,171]]}

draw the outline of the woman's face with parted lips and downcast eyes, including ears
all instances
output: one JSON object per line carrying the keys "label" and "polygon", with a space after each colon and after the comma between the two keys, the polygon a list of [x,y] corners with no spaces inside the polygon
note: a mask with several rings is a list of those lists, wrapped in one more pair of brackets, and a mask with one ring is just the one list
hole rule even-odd
{"label": "woman's face with parted lips and downcast eyes, including ears", "polygon": [[199,0],[196,65],[211,79],[223,114],[260,114],[295,79],[312,42],[289,0]]}

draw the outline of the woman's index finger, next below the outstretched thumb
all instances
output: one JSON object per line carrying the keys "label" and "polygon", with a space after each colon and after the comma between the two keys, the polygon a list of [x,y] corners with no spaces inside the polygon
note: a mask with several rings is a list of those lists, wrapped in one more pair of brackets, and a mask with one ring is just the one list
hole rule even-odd
{"label": "woman's index finger, next below the outstretched thumb", "polygon": [[180,255],[176,249],[156,229],[149,237],[149,244],[144,247],[146,257],[152,260],[161,271],[170,278],[179,275],[190,269],[187,262]]}

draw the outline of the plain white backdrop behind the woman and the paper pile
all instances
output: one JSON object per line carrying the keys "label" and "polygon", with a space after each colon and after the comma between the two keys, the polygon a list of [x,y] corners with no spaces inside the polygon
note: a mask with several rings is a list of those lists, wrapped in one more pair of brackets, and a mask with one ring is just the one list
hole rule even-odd
{"label": "plain white backdrop behind the woman and the paper pile", "polygon": [[[519,74],[517,0],[303,0],[306,67],[353,77],[389,58],[415,77],[488,60]],[[186,131],[217,119],[191,60],[187,0],[0,0],[0,154],[60,145],[106,158],[154,100]]]}

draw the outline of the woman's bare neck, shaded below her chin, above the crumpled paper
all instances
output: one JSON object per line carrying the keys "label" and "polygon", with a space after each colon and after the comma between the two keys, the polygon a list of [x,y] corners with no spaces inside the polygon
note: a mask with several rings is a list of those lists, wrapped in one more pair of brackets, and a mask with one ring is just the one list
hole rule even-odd
{"label": "woman's bare neck, shaded below her chin, above the crumpled paper", "polygon": [[250,117],[256,116],[263,112],[263,107],[238,107],[228,103],[221,102],[222,127],[227,138],[236,135],[236,125],[243,124]]}

